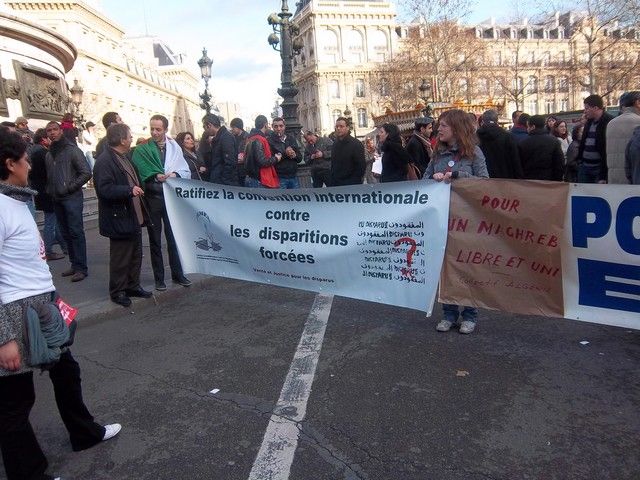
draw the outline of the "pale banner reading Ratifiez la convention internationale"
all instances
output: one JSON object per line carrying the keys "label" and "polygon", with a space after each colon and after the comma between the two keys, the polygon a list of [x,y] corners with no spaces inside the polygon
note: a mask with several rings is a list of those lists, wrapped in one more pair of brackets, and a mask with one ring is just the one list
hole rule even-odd
{"label": "pale banner reading Ratifiez la convention internationale", "polygon": [[171,179],[164,191],[185,272],[431,313],[447,184],[270,190]]}

